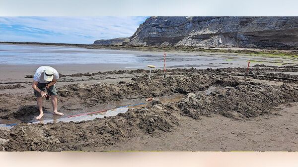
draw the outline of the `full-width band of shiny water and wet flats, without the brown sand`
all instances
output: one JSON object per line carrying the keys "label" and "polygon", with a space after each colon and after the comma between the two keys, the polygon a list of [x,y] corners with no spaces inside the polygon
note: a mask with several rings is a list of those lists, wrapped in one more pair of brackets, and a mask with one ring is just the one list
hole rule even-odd
{"label": "full-width band of shiny water and wet flats, without the brown sand", "polygon": [[[252,63],[264,63],[266,65],[297,64],[297,59],[287,59],[285,57],[264,58],[262,56],[232,53],[169,52],[166,56],[168,67],[245,67],[248,60],[253,60]],[[42,64],[42,62],[47,62],[47,64],[118,63],[134,68],[142,68],[148,64],[153,64],[156,67],[163,67],[163,52],[0,44],[0,64]]]}

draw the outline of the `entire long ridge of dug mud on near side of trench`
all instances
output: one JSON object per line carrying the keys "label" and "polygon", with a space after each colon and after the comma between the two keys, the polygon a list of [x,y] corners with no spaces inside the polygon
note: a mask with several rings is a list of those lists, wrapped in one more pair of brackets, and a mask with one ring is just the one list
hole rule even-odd
{"label": "entire long ridge of dug mud on near side of trench", "polygon": [[[221,86],[223,85],[228,86]],[[154,100],[141,109],[129,109],[117,116],[81,122],[19,124],[5,135],[6,151],[103,151],[106,147],[140,135],[160,136],[180,125],[175,115],[221,114],[234,119],[247,119],[271,114],[280,104],[298,101],[298,88],[284,84],[269,86],[218,82],[219,90],[210,94],[189,93],[175,104],[164,105]],[[177,106],[177,107],[176,107]]]}

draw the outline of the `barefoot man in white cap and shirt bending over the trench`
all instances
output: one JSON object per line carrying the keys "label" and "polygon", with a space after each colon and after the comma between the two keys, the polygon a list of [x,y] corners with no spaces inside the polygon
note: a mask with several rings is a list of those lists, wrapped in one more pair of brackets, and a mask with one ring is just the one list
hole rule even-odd
{"label": "barefoot man in white cap and shirt bending over the trench", "polygon": [[44,115],[42,111],[42,99],[47,98],[45,89],[51,96],[54,114],[63,115],[63,113],[57,111],[57,90],[55,84],[58,79],[59,73],[53,67],[41,66],[37,68],[32,83],[32,88],[34,89],[34,95],[36,96],[37,106],[39,109],[39,115],[36,119],[40,119]]}

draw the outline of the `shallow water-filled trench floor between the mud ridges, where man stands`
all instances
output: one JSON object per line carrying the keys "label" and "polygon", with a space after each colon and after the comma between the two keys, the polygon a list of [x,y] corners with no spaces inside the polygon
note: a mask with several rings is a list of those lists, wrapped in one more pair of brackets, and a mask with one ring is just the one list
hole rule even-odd
{"label": "shallow water-filled trench floor between the mud ridges, where man stands", "polygon": [[[162,103],[173,103],[180,101],[185,95],[173,94],[171,96],[165,96],[157,98]],[[155,100],[157,100],[155,99]],[[13,126],[23,123],[57,123],[57,122],[79,122],[92,120],[95,118],[104,118],[108,116],[115,116],[118,113],[125,113],[129,109],[142,108],[149,104],[150,101],[145,99],[133,99],[133,100],[120,100],[114,103],[108,103],[105,105],[94,106],[89,108],[88,111],[75,110],[66,112],[64,116],[54,116],[49,111],[44,111],[43,119],[36,120],[35,116],[39,111],[37,106],[24,106],[17,113],[13,119],[0,119],[0,126],[12,128]],[[96,110],[96,111],[95,111]]]}

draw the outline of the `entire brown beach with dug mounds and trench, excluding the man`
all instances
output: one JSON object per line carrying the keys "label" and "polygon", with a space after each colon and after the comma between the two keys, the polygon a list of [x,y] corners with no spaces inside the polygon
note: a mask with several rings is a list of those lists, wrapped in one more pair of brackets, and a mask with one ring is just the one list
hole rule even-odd
{"label": "entire brown beach with dug mounds and trench, excluding the man", "polygon": [[65,115],[44,101],[36,120],[38,66],[0,65],[2,150],[298,150],[297,66],[254,63],[246,80],[245,67],[172,68],[166,78],[159,68],[149,80],[131,64],[53,64]]}

